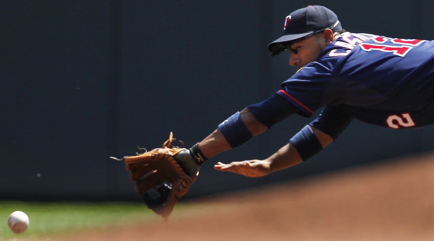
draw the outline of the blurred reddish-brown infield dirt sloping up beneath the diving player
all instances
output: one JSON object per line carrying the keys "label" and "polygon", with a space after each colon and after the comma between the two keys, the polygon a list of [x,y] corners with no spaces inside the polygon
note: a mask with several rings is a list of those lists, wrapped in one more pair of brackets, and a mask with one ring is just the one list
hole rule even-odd
{"label": "blurred reddish-brown infield dirt sloping up beneath the diving player", "polygon": [[83,241],[432,241],[434,155],[195,200],[169,221],[83,234]]}

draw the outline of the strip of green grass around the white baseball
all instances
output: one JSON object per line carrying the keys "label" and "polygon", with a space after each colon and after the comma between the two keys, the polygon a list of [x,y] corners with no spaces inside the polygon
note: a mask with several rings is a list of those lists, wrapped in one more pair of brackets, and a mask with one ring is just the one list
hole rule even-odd
{"label": "strip of green grass around the white baseball", "polygon": [[[14,234],[7,225],[9,215],[16,210],[25,212],[30,220],[29,227],[21,234]],[[0,202],[0,240],[44,239],[156,218],[161,219],[139,202]]]}

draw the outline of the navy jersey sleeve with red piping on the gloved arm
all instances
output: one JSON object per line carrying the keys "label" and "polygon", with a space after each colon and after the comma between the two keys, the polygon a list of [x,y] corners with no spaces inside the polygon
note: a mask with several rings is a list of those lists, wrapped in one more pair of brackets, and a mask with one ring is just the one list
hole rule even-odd
{"label": "navy jersey sleeve with red piping on the gloved arm", "polygon": [[339,99],[342,87],[339,78],[334,78],[331,68],[333,58],[312,62],[283,82],[277,94],[299,109],[298,114],[311,117],[320,107]]}

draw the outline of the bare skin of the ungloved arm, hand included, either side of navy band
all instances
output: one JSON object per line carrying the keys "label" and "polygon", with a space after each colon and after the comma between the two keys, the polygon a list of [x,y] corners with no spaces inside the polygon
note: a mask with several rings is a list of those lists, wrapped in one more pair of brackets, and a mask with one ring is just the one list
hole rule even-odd
{"label": "bare skin of the ungloved arm, hand included, either side of navy band", "polygon": [[[311,129],[323,148],[332,143],[332,137],[316,129],[315,127],[311,127]],[[240,162],[232,162],[229,164],[219,162],[214,166],[214,168],[220,171],[228,171],[245,176],[259,177],[265,176],[277,170],[295,166],[301,162],[302,159],[299,156],[296,148],[291,143],[288,143],[265,160],[245,160]]]}

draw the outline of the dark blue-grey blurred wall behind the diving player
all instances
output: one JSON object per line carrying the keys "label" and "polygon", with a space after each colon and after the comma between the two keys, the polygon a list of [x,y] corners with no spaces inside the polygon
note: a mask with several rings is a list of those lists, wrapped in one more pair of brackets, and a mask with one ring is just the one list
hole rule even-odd
{"label": "dark blue-grey blurred wall behind the diving player", "polygon": [[[109,156],[187,147],[295,69],[266,49],[285,17],[332,9],[352,32],[433,39],[428,0],[2,1],[0,194],[4,199],[138,200]],[[314,115],[319,114],[317,111]],[[213,195],[433,150],[433,127],[390,130],[355,120],[322,153],[263,178],[220,173],[218,161],[263,159],[312,119],[293,116],[201,169],[187,197]]]}

